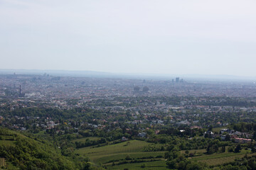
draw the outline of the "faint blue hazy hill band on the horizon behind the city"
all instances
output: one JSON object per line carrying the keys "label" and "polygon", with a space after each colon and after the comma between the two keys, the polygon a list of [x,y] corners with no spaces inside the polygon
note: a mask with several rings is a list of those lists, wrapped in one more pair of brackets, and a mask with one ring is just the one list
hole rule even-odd
{"label": "faint blue hazy hill band on the horizon behind the city", "polygon": [[78,70],[41,70],[41,69],[0,69],[0,74],[50,74],[52,76],[70,77],[102,77],[102,78],[126,78],[126,79],[175,79],[184,80],[210,80],[210,81],[256,81],[256,77],[241,77],[233,75],[207,75],[207,74],[141,74],[141,73],[110,73]]}

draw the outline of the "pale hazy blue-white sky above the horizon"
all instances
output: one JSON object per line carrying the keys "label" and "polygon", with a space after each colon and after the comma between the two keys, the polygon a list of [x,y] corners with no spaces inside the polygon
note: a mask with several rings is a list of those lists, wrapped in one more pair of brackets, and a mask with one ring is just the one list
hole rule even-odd
{"label": "pale hazy blue-white sky above the horizon", "polygon": [[0,0],[0,69],[256,77],[255,0]]}

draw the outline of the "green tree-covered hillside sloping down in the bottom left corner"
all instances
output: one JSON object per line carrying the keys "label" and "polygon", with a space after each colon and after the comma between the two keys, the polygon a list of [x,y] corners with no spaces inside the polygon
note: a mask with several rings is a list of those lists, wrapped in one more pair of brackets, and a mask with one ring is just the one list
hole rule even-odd
{"label": "green tree-covered hillside sloping down in the bottom left corner", "polygon": [[86,157],[64,157],[47,140],[0,128],[0,157],[6,169],[90,169]]}

